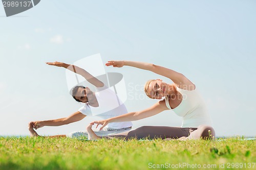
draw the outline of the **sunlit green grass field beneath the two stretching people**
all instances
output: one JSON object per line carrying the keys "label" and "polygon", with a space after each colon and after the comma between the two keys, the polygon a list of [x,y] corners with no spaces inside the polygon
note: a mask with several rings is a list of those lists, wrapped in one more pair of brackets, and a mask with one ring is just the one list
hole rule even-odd
{"label": "sunlit green grass field beneath the two stretching people", "polygon": [[[256,169],[256,140],[0,137],[0,169]],[[254,166],[254,167],[253,167]]]}

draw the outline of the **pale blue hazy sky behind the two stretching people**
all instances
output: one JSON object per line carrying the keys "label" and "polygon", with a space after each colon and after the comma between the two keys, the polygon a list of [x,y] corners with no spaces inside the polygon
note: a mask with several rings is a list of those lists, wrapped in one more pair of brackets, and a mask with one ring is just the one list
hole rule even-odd
{"label": "pale blue hazy sky behind the two stretching people", "polygon": [[[66,117],[82,104],[69,94],[64,68],[97,53],[103,62],[134,60],[181,72],[201,91],[218,136],[255,136],[256,1],[41,1],[6,17],[0,6],[0,135],[29,135],[32,120]],[[161,78],[132,67],[123,74],[128,111],[156,101],[141,89]],[[136,87],[136,89],[135,89]],[[140,88],[137,88],[140,87]],[[96,117],[39,135],[84,130]],[[172,111],[138,120],[134,128],[181,126]]]}

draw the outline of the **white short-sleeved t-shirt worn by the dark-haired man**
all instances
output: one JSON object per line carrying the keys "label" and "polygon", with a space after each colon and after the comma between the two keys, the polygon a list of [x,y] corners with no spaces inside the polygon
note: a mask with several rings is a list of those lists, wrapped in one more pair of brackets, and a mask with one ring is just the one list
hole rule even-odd
{"label": "white short-sleeved t-shirt worn by the dark-haired man", "polygon": [[[78,111],[87,116],[98,116],[102,119],[116,117],[127,113],[125,105],[119,100],[117,94],[112,90],[113,87],[95,87],[95,96],[99,106],[93,107],[88,103]],[[121,129],[131,127],[132,122],[110,123],[106,128]]]}

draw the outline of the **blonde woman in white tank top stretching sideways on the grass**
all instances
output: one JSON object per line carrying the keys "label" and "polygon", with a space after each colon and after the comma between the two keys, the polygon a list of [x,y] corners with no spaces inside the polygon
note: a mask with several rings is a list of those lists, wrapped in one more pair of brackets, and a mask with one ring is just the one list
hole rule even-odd
{"label": "blonde woman in white tank top stretching sideways on the grass", "polygon": [[[150,63],[135,61],[109,61],[106,63],[106,66],[113,67],[122,67],[124,65],[155,72],[158,75],[169,78],[173,83],[167,84],[160,79],[147,81],[144,85],[146,95],[152,99],[164,98],[163,100],[142,111],[95,121],[90,126],[93,124],[97,124],[97,127],[102,125],[101,130],[109,123],[139,120],[156,115],[164,110],[173,110],[183,118],[181,127],[143,126],[130,131],[125,138],[198,139],[215,136],[215,131],[211,127],[210,116],[196,85],[184,75],[172,69]],[[94,138],[97,137],[94,136]]]}

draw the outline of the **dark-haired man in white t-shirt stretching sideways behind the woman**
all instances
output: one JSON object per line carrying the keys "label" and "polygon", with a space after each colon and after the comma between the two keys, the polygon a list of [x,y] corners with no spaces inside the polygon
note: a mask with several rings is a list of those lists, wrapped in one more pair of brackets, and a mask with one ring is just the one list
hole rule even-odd
{"label": "dark-haired man in white t-shirt stretching sideways behind the woman", "polygon": [[[118,100],[118,97],[114,91],[106,87],[103,82],[92,76],[88,71],[72,65],[62,62],[47,62],[48,65],[53,65],[57,67],[63,67],[69,69],[70,71],[75,72],[78,75],[81,75],[89,83],[94,85],[95,92],[91,91],[90,88],[84,86],[75,86],[72,90],[72,96],[77,102],[84,103],[84,105],[75,113],[71,114],[68,117],[54,119],[54,120],[45,120],[45,121],[36,121],[29,123],[29,131],[31,136],[38,136],[34,129],[38,129],[44,126],[61,126],[67,125],[70,123],[77,122],[83,119],[86,116],[97,115],[103,119],[110,118],[118,115],[127,113],[127,109],[124,104],[113,107],[111,104],[108,104],[109,101]],[[106,106],[106,104],[108,104]],[[114,108],[114,109],[113,109]],[[34,128],[34,129],[33,129]],[[119,122],[110,124],[108,127],[97,131],[97,135],[106,136],[109,134],[116,134],[120,132],[129,131],[132,128],[131,122]],[[79,137],[85,136],[88,137],[86,131],[72,132],[67,135],[56,135],[50,137]]]}

